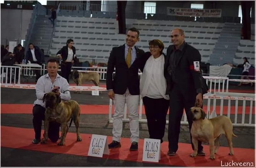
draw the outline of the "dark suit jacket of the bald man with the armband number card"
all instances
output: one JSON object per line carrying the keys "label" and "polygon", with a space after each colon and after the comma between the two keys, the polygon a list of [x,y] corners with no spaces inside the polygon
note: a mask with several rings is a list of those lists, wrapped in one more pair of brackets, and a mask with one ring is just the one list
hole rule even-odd
{"label": "dark suit jacket of the bald man with the armband number card", "polygon": [[[169,59],[174,61],[171,57],[174,45],[170,45],[167,49],[167,56],[165,57],[164,64],[164,75],[167,80],[166,94],[170,94],[172,90],[173,82],[172,78],[168,72]],[[197,89],[201,88],[200,82],[200,71],[194,71],[192,65],[194,66],[194,61],[199,61],[201,63],[201,55],[197,49],[193,46],[185,43],[182,50],[182,56],[179,57],[176,66],[171,65],[172,75],[175,76],[175,81],[184,96],[190,96],[191,93],[195,93]]]}

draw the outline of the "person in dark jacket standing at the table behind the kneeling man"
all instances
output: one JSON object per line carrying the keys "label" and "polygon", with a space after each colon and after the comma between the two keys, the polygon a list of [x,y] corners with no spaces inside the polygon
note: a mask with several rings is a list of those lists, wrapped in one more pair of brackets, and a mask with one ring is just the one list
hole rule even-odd
{"label": "person in dark jacket standing at the table behind the kneeling man", "polygon": [[[41,49],[37,46],[34,46],[34,44],[29,43],[29,49],[26,52],[26,63],[30,61],[31,63],[37,63],[39,65],[42,65],[44,58],[44,54],[41,51]],[[34,73],[36,74],[36,81],[41,77],[41,72],[40,70],[33,70]]]}

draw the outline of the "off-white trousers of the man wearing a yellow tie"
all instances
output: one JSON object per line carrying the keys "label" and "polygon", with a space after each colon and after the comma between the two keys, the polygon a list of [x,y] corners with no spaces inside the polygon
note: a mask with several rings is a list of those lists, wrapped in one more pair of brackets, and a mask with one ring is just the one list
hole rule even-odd
{"label": "off-white trousers of the man wearing a yellow tie", "polygon": [[139,95],[131,95],[129,89],[125,94],[115,94],[114,96],[114,115],[113,115],[113,141],[120,142],[123,129],[123,116],[125,112],[125,103],[128,109],[128,117],[130,118],[131,142],[139,141],[139,116],[138,105]]}

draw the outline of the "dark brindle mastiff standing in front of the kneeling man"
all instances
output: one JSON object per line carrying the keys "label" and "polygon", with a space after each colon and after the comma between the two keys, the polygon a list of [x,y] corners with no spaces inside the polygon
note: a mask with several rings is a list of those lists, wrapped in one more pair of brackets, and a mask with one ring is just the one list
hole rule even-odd
{"label": "dark brindle mastiff standing in front of the kneeling man", "polygon": [[44,138],[41,143],[46,143],[48,139],[49,122],[56,121],[61,124],[62,135],[60,143],[58,145],[63,146],[65,144],[66,134],[68,133],[68,121],[70,126],[72,120],[76,125],[76,141],[82,141],[79,133],[79,116],[80,107],[79,104],[74,101],[62,101],[60,96],[54,92],[44,94],[43,101],[45,100],[45,120],[44,120]]}

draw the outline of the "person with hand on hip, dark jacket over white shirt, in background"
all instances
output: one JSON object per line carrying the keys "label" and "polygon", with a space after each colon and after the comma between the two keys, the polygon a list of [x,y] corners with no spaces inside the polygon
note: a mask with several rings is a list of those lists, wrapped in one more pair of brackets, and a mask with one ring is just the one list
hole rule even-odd
{"label": "person with hand on hip, dark jacket over white shirt, in background", "polygon": [[72,39],[68,39],[66,41],[66,46],[63,46],[62,49],[56,54],[60,58],[60,60],[62,60],[60,65],[61,76],[65,78],[68,83],[71,73],[71,67],[76,57],[76,48],[73,46],[73,44],[74,41]]}

